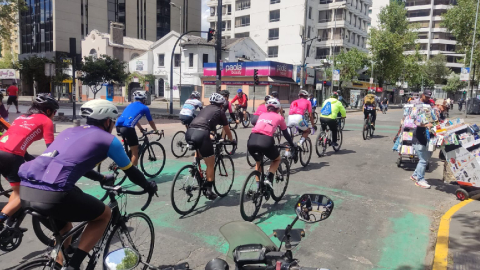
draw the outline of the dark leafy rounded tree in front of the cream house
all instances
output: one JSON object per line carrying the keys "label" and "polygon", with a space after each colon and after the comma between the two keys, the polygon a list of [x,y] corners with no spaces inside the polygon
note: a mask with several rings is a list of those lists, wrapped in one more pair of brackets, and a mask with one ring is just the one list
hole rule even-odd
{"label": "dark leafy rounded tree in front of the cream house", "polygon": [[101,55],[100,58],[87,56],[80,68],[84,75],[79,79],[90,87],[95,99],[104,83],[123,83],[127,79],[125,68],[125,62],[108,55]]}

